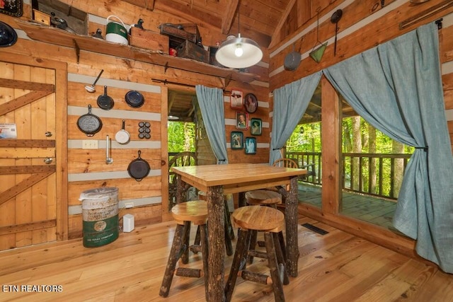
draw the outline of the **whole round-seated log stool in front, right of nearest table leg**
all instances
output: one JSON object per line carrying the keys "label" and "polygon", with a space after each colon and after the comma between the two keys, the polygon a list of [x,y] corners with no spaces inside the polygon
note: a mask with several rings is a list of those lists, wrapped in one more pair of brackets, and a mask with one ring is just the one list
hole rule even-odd
{"label": "whole round-seated log stool in front, right of nearest table leg", "polygon": [[[240,231],[236,243],[236,252],[234,252],[234,259],[225,286],[226,301],[231,301],[238,275],[244,280],[260,284],[272,284],[275,301],[285,301],[282,283],[288,284],[289,278],[285,269],[285,258],[277,239],[277,233],[285,228],[285,216],[277,209],[260,206],[240,207],[233,212],[232,216],[234,224]],[[247,241],[253,231],[264,232],[266,252],[248,249]],[[270,277],[245,270],[248,255],[267,259]]]}

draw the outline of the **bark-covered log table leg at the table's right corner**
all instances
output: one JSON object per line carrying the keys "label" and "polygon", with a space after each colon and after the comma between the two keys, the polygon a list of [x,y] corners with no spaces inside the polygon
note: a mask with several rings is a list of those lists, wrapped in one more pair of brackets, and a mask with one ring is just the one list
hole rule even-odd
{"label": "bark-covered log table leg at the table's right corner", "polygon": [[297,277],[299,244],[297,243],[297,177],[291,178],[285,207],[287,270],[289,276]]}

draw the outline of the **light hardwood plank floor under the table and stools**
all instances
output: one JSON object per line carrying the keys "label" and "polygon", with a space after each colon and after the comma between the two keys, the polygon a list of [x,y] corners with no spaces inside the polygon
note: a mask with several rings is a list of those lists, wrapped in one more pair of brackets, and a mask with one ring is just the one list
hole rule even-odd
{"label": "light hardwood plank floor under the table and stools", "polygon": [[[173,278],[168,298],[159,296],[174,230],[173,222],[157,223],[98,248],[80,239],[0,252],[0,301],[205,301],[202,279],[184,277]],[[284,286],[286,301],[453,301],[453,275],[435,266],[312,219],[299,219],[298,233],[299,276]],[[189,266],[201,267],[200,255],[191,254]],[[266,272],[263,261],[252,267]],[[60,287],[45,292],[52,285]],[[274,298],[270,286],[238,278],[233,301]]]}

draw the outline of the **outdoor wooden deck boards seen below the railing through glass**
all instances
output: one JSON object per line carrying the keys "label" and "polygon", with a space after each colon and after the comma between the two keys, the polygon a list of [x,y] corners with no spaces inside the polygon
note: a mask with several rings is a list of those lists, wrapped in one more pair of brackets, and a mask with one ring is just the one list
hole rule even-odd
{"label": "outdoor wooden deck boards seen below the railing through glass", "polygon": [[[299,202],[321,207],[321,187],[299,182]],[[345,216],[396,231],[391,223],[395,210],[396,201],[343,192],[343,211],[340,212]]]}

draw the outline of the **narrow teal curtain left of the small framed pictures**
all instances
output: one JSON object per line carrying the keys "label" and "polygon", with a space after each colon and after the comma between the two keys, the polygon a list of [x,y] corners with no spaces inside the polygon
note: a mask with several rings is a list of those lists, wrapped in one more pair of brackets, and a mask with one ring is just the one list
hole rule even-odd
{"label": "narrow teal curtain left of the small framed pictures", "polygon": [[217,158],[217,164],[228,163],[226,153],[226,130],[224,93],[219,88],[195,86],[198,104],[205,123],[207,138],[210,140],[212,151]]}

